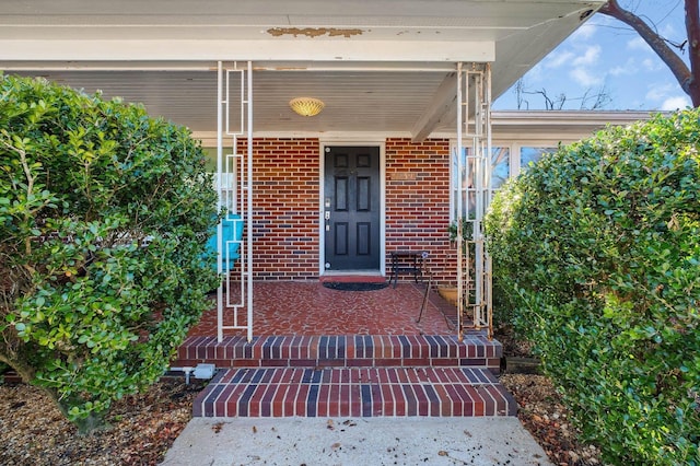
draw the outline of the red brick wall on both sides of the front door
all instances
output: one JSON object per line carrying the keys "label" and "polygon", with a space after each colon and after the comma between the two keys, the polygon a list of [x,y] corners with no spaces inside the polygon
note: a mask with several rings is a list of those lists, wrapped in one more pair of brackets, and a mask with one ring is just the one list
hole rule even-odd
{"label": "red brick wall on both sides of the front door", "polygon": [[[259,138],[254,152],[254,277],[318,278],[318,139]],[[238,150],[246,150],[240,141]],[[428,251],[440,283],[454,281],[450,248],[450,141],[386,140],[386,251]],[[387,259],[387,272],[389,260]]]}

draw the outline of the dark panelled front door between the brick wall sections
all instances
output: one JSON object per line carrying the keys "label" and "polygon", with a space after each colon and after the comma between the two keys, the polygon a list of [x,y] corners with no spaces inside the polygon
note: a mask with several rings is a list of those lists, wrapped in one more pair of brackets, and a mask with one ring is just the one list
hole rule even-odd
{"label": "dark panelled front door between the brick wall sections", "polygon": [[326,270],[380,268],[380,148],[326,147]]}

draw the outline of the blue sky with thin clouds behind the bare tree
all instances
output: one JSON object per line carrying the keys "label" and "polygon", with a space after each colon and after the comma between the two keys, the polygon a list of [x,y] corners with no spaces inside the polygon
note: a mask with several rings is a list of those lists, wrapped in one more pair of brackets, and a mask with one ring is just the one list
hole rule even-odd
{"label": "blue sky with thin clouds behind the bare tree", "polygon": [[[682,0],[619,0],[674,43],[686,39]],[[678,51],[678,49],[674,48]],[[680,56],[688,61],[687,48]],[[546,109],[544,92],[561,109],[591,108],[597,95],[600,109],[674,110],[690,98],[666,65],[626,24],[595,14],[523,78],[521,109]],[[585,98],[584,98],[585,97]],[[494,109],[517,109],[515,88],[493,103]]]}

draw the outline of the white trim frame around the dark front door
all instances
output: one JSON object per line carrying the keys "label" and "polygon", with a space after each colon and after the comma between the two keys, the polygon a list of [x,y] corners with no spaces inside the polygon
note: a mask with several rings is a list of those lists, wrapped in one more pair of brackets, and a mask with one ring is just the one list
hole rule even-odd
{"label": "white trim frame around the dark front door", "polygon": [[[382,277],[386,277],[386,152],[385,141],[343,141],[343,140],[319,140],[318,144],[318,277],[326,273],[325,251],[326,232],[324,231],[324,174],[326,173],[325,153],[327,147],[352,145],[380,149],[380,270]],[[376,270],[375,270],[376,271]]]}

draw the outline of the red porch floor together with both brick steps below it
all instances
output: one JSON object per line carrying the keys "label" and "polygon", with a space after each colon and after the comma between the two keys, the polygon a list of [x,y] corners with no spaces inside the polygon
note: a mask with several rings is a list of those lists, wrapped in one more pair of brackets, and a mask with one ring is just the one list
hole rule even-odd
{"label": "red porch floor together with both brick steps below it", "polygon": [[493,376],[501,345],[456,338],[456,310],[424,286],[337,291],[320,282],[255,282],[254,339],[224,333],[215,301],[174,365],[214,363],[195,416],[513,416]]}

